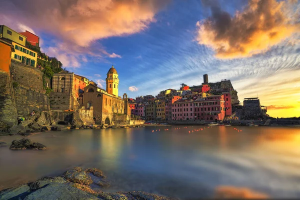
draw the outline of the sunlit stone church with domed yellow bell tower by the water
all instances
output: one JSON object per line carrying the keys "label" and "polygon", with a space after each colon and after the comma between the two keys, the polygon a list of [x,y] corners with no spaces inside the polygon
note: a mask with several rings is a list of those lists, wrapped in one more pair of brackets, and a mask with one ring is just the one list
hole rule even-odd
{"label": "sunlit stone church with domed yellow bell tower by the water", "polygon": [[127,94],[121,98],[118,96],[118,73],[111,66],[106,74],[106,90],[88,84],[84,87],[82,105],[93,109],[93,118],[96,124],[129,124],[130,107]]}

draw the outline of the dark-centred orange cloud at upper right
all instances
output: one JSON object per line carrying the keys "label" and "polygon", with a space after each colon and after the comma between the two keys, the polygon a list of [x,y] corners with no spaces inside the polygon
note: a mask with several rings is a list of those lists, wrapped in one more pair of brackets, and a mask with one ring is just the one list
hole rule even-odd
{"label": "dark-centred orange cloud at upper right", "polygon": [[218,58],[248,57],[266,51],[299,30],[288,7],[291,1],[249,0],[233,17],[216,0],[202,0],[212,16],[197,21],[199,44],[213,48]]}

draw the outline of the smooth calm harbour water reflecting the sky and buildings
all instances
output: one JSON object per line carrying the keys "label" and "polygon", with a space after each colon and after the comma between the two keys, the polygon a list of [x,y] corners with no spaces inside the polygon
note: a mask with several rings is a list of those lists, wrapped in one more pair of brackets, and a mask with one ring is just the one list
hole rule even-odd
{"label": "smooth calm harbour water reflecting the sky and buildings", "polygon": [[[175,128],[180,129],[175,129]],[[97,167],[106,191],[143,190],[182,199],[211,197],[220,185],[300,198],[300,128],[215,126],[49,131],[29,136],[47,150],[0,147],[0,187]],[[169,130],[164,130],[168,128]],[[152,132],[152,129],[157,131]],[[160,129],[160,131],[158,131]],[[190,131],[190,133],[188,133]],[[10,145],[22,136],[2,136]]]}

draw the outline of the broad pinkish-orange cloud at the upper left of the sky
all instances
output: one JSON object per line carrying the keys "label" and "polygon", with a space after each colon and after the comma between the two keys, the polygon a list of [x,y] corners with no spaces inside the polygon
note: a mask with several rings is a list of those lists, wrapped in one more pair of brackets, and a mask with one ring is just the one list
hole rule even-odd
{"label": "broad pinkish-orange cloud at the upper left of the sky", "polygon": [[147,28],[167,1],[13,0],[6,1],[7,8],[11,9],[2,13],[18,14],[18,20],[31,28],[47,30],[64,40],[88,46],[93,40],[133,34]]}

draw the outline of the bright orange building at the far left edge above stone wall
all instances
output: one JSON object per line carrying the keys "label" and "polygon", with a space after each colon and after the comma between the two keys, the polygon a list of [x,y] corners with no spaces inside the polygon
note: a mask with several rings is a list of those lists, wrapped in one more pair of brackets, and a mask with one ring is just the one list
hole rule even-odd
{"label": "bright orange building at the far left edge above stone wall", "polygon": [[9,72],[11,52],[14,52],[13,45],[0,39],[0,70]]}

